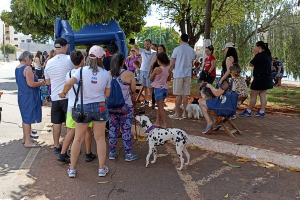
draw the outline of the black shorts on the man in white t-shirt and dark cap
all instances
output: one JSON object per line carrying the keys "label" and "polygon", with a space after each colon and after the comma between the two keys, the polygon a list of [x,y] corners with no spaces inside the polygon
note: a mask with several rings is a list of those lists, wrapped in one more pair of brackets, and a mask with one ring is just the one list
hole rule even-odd
{"label": "black shorts on the man in white t-shirt and dark cap", "polygon": [[64,123],[66,119],[68,99],[54,100],[51,106],[51,122],[54,124]]}

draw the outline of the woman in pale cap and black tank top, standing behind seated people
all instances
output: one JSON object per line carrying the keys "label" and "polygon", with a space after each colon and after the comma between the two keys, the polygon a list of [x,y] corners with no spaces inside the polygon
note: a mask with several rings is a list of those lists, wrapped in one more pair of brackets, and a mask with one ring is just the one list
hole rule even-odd
{"label": "woman in pale cap and black tank top, standing behind seated people", "polygon": [[220,85],[223,80],[227,77],[231,77],[230,75],[230,66],[232,63],[238,63],[238,57],[235,50],[235,45],[232,42],[227,42],[222,50],[225,50],[225,59],[222,61],[222,73],[221,78],[218,80],[218,84]]}

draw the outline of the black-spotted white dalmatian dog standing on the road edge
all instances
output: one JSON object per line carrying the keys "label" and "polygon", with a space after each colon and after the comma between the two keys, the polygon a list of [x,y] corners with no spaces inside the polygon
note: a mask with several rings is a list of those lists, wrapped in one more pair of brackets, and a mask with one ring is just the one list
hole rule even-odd
{"label": "black-spotted white dalmatian dog standing on the road edge", "polygon": [[186,149],[186,140],[187,134],[179,128],[159,128],[153,126],[149,117],[145,115],[135,116],[135,119],[140,122],[141,127],[145,130],[146,141],[149,145],[149,152],[146,156],[146,167],[149,164],[150,155],[153,152],[153,160],[151,163],[155,163],[156,160],[156,146],[161,146],[165,144],[168,140],[173,140],[175,142],[176,151],[180,159],[180,167],[177,170],[182,170],[183,167],[183,153],[186,155],[187,162],[185,165],[188,165],[190,155]]}

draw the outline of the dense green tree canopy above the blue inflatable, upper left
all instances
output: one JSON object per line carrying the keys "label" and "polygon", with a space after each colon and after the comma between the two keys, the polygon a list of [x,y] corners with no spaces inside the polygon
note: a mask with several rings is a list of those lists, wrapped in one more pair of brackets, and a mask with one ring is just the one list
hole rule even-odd
{"label": "dense green tree canopy above the blue inflatable, upper left", "polygon": [[[86,23],[109,21],[112,17],[118,21],[126,35],[140,31],[145,24],[143,17],[148,10],[146,0],[104,1],[106,0],[11,0],[11,11],[3,10],[1,19],[18,32],[34,35],[33,40],[39,42],[53,37],[56,17],[68,19],[74,30]],[[112,10],[109,10],[110,6],[114,6]]]}

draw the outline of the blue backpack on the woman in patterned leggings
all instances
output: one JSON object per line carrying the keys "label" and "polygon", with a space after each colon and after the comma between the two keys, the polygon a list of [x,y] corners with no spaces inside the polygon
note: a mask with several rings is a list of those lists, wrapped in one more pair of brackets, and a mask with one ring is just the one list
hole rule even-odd
{"label": "blue backpack on the woman in patterned leggings", "polygon": [[[125,70],[123,70],[122,72],[124,71]],[[117,77],[119,77],[122,72],[120,72],[120,74]],[[118,107],[122,107],[125,104],[125,99],[123,97],[121,87],[118,81],[116,80],[117,77],[112,78],[112,80],[110,81],[110,94],[106,99],[107,108],[118,108]],[[128,88],[126,94],[127,98],[129,97],[129,89],[130,87]]]}

